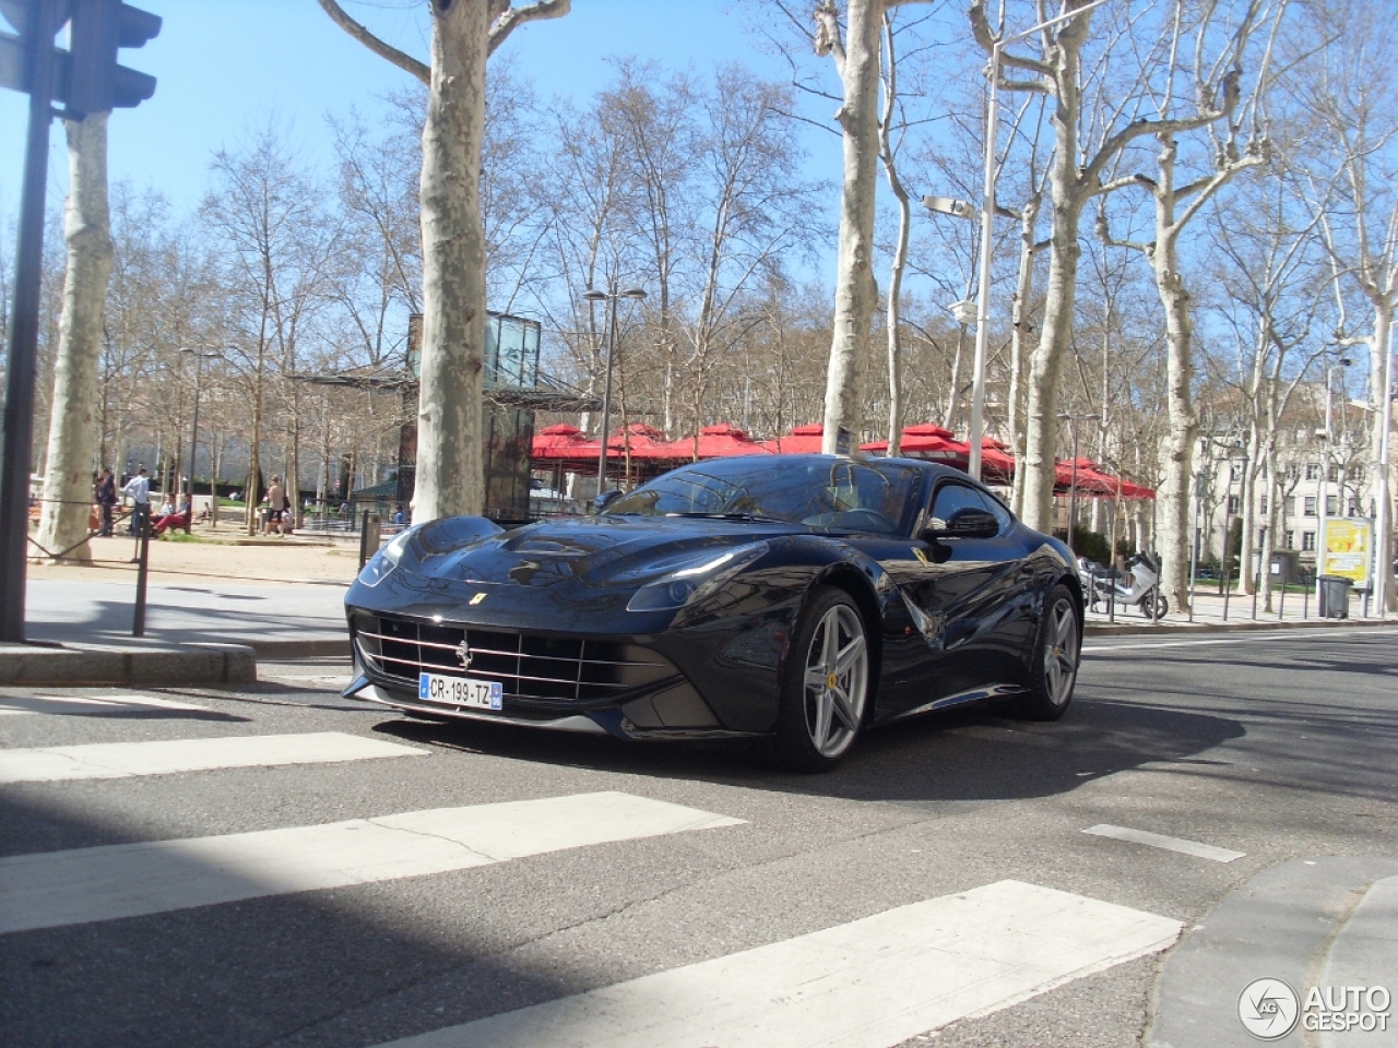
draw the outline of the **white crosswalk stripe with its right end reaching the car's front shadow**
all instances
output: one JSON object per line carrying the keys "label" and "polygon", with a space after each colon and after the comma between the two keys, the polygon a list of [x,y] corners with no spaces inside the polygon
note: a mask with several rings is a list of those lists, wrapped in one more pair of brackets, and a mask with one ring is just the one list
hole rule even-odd
{"label": "white crosswalk stripe with its right end reaching the car's front shadow", "polygon": [[425,756],[428,750],[338,731],[166,742],[98,742],[82,746],[0,749],[0,785]]}

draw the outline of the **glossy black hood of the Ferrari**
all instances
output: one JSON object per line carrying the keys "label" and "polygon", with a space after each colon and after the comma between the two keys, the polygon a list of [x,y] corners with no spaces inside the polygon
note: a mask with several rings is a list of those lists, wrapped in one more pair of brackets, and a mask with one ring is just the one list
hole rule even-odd
{"label": "glossy black hood of the Ferrari", "polygon": [[808,532],[800,524],[671,517],[565,518],[484,537],[429,524],[400,570],[493,585],[639,587],[734,546]]}

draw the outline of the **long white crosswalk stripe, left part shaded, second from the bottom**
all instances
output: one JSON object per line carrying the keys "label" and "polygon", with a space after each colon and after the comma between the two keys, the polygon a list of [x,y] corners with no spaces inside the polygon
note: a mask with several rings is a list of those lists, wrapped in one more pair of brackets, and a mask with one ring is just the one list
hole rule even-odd
{"label": "long white crosswalk stripe, left part shaded, second from the bottom", "polygon": [[0,933],[369,885],[741,823],[598,792],[17,855],[0,859]]}

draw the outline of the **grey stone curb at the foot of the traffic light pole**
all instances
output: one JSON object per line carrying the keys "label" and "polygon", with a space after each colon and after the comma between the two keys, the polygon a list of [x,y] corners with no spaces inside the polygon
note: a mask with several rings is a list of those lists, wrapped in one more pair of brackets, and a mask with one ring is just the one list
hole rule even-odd
{"label": "grey stone curb at the foot of the traffic light pole", "polygon": [[243,685],[257,679],[257,657],[245,644],[180,644],[168,648],[39,647],[0,644],[0,685],[116,687]]}

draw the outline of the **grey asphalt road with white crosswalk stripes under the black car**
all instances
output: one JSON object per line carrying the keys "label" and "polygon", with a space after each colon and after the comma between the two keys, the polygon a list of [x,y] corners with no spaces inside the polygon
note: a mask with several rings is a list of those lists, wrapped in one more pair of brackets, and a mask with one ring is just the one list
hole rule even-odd
{"label": "grey asphalt road with white crosswalk stripes under the black car", "polygon": [[[341,700],[345,672],[0,690],[0,1044],[591,1044],[589,1023],[658,1007],[607,1042],[1116,1048],[1176,929],[1250,878],[1398,857],[1391,627],[1089,639],[1061,722],[934,715],[823,777],[733,745],[400,720]],[[226,742],[109,745],[175,741]],[[487,808],[506,802],[531,803]],[[963,931],[927,957],[893,942],[917,921]],[[1044,936],[1078,938],[1016,968]],[[762,987],[685,1012],[677,980]]]}

